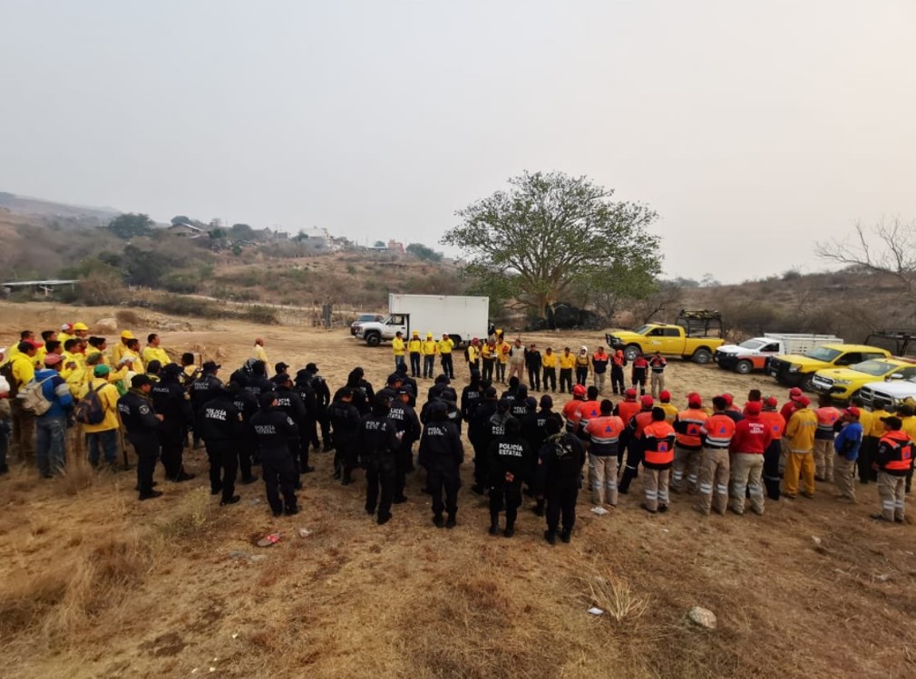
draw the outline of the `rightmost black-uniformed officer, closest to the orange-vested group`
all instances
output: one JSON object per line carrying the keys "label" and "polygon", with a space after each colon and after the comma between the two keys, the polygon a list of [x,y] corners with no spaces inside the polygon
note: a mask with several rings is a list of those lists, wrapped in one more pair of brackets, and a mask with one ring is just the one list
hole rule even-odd
{"label": "rightmost black-uniformed officer, closest to the orange-vested group", "polygon": [[547,499],[547,530],[544,538],[556,544],[557,528],[562,515],[560,539],[568,543],[575,525],[575,503],[582,485],[585,448],[573,434],[562,431],[560,415],[551,415],[546,423],[547,438],[538,451],[538,492]]}

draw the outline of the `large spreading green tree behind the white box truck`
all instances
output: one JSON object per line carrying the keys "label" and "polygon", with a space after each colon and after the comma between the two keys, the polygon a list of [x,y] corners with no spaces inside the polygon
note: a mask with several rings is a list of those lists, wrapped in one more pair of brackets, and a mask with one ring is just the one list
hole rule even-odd
{"label": "large spreading green tree behind the white box truck", "polygon": [[583,286],[627,296],[653,289],[661,271],[659,238],[647,231],[653,210],[562,172],[525,172],[508,183],[458,210],[462,222],[442,238],[463,251],[475,292],[544,318],[555,302],[583,306],[568,298]]}

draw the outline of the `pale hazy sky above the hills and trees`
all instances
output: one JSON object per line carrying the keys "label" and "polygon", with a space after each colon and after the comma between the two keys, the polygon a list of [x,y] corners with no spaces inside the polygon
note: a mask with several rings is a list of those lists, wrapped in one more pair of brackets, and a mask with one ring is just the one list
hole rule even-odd
{"label": "pale hazy sky above the hills and trees", "polygon": [[667,275],[818,270],[916,218],[914,29],[913,0],[0,0],[0,190],[434,245],[556,169],[657,210]]}

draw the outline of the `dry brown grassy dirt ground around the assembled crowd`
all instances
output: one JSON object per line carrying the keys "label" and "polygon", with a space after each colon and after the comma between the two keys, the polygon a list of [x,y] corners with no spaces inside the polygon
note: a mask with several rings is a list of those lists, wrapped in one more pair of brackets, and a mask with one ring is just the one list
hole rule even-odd
{"label": "dry brown grassy dirt ground around the assembled crowd", "polygon": [[[137,313],[146,335],[167,319]],[[0,341],[21,327],[90,325],[112,310],[0,304]],[[354,366],[378,386],[393,368],[333,331],[191,321],[163,345],[234,367],[256,336],[270,361],[315,361],[332,388]],[[599,333],[535,333],[541,348],[594,348]],[[466,383],[459,361],[455,386]],[[747,390],[785,396],[769,378],[671,361],[675,402]],[[421,392],[429,384],[421,383]],[[565,398],[555,399],[559,410]],[[470,492],[465,443],[458,526],[431,523],[420,479],[384,526],[363,512],[362,477],[331,479],[313,456],[303,511],[274,519],[263,484],[220,508],[202,451],[196,480],[138,502],[133,472],[66,478],[31,469],[0,479],[0,646],[19,677],[912,677],[916,676],[916,537],[911,523],[868,519],[875,485],[840,504],[767,502],[762,517],[701,517],[686,496],[671,511],[639,509],[641,482],[606,516],[580,496],[572,544],[550,546],[543,520],[519,514],[512,539],[486,534]],[[311,534],[300,537],[306,528]],[[278,532],[278,544],[254,542]],[[711,609],[717,629],[689,620]],[[597,606],[601,616],[587,611]]]}

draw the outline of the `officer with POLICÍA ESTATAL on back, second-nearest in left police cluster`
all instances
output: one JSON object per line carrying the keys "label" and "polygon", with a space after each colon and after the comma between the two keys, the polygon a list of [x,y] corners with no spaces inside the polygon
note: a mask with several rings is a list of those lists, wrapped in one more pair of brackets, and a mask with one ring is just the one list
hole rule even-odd
{"label": "officer with POLIC\u00cdA ESTATAL on back, second-nearest in left police cluster", "polygon": [[210,494],[223,493],[220,505],[235,504],[235,474],[238,472],[238,441],[244,436],[245,418],[235,407],[234,394],[220,389],[201,407],[197,421],[210,459]]}

